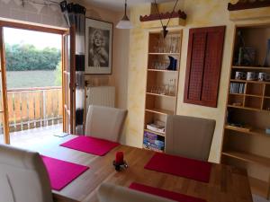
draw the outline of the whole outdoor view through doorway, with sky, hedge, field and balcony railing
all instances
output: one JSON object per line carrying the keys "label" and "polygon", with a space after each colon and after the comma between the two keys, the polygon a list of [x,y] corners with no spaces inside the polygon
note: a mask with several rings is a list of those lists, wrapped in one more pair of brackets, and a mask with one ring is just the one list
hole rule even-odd
{"label": "whole outdoor view through doorway, with sky, hedge, field and balcony railing", "polygon": [[61,35],[4,28],[4,51],[10,132],[60,127]]}

